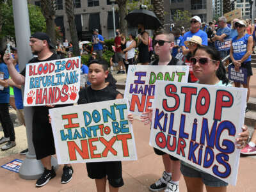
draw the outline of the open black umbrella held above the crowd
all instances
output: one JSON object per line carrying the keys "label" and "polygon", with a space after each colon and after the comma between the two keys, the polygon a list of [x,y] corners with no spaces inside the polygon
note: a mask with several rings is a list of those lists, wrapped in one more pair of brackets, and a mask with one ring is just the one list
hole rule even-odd
{"label": "open black umbrella held above the crowd", "polygon": [[138,24],[143,24],[145,29],[158,29],[161,26],[161,22],[156,17],[156,14],[144,9],[129,12],[125,20],[127,20],[132,27],[138,27]]}

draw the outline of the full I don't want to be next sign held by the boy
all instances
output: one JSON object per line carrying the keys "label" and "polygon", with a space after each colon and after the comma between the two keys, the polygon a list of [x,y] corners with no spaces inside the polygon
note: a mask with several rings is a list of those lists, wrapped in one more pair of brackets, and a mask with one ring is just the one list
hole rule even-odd
{"label": "full I don't want to be next sign held by the boy", "polygon": [[124,99],[49,109],[59,164],[137,160]]}

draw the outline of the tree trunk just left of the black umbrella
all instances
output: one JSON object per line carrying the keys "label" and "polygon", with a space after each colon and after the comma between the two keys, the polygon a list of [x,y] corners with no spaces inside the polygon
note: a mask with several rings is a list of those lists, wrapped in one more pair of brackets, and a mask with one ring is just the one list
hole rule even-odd
{"label": "tree trunk just left of the black umbrella", "polygon": [[120,31],[121,33],[124,33],[125,36],[128,36],[127,21],[124,19],[127,13],[127,9],[126,9],[127,0],[116,0],[116,3],[118,4],[118,7],[119,7]]}

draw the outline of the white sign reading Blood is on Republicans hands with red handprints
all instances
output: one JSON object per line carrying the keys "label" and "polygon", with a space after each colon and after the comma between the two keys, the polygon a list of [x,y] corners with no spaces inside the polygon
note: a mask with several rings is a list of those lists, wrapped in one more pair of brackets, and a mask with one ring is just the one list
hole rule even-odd
{"label": "white sign reading Blood is on Republicans hands with red handprints", "polygon": [[76,103],[80,68],[80,57],[29,63],[26,66],[24,106]]}

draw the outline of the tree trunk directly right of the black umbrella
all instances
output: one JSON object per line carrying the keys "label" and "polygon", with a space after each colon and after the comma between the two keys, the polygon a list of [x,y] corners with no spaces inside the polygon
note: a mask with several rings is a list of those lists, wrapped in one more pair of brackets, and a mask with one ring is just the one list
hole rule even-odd
{"label": "tree trunk directly right of the black umbrella", "polygon": [[152,0],[153,10],[157,18],[160,20],[162,26],[156,29],[156,33],[163,31],[164,28],[164,0]]}

